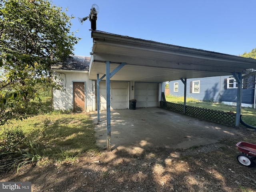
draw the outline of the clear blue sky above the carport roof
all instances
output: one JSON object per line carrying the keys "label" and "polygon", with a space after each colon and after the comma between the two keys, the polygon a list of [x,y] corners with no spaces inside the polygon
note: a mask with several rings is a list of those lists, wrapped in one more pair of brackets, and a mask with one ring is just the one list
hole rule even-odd
{"label": "clear blue sky above the carport roof", "polygon": [[74,54],[90,56],[92,4],[100,8],[97,30],[167,44],[239,55],[256,48],[255,0],[52,0],[73,15],[82,38]]}

